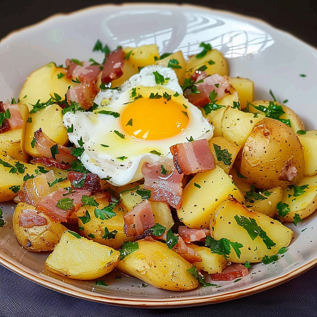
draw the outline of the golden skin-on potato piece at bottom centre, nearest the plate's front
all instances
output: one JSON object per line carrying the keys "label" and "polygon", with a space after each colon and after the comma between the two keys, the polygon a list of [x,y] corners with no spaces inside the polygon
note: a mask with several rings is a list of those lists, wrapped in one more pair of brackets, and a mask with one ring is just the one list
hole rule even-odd
{"label": "golden skin-on potato piece at bottom centre, nearest the plate's front", "polygon": [[138,249],[120,260],[122,272],[138,277],[157,288],[181,291],[194,289],[198,281],[187,270],[192,265],[165,243],[146,238],[135,242]]}

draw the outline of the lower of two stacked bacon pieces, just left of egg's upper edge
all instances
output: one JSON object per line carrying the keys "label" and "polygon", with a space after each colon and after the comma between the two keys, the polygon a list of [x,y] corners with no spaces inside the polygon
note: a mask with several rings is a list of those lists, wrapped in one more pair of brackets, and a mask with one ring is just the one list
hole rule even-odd
{"label": "lower of two stacked bacon pieces, just left of egg's upper edge", "polygon": [[75,87],[69,88],[66,97],[68,104],[71,104],[70,101],[74,101],[79,103],[82,108],[89,109],[93,106],[97,93],[94,81],[84,81]]}

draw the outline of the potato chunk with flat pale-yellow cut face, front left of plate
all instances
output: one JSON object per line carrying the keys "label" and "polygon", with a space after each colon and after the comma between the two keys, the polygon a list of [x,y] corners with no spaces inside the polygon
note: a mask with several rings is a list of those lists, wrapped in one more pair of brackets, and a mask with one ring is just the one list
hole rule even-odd
{"label": "potato chunk with flat pale-yellow cut face, front left of plate", "polygon": [[119,260],[119,251],[67,230],[45,261],[45,266],[58,275],[92,280],[111,272]]}

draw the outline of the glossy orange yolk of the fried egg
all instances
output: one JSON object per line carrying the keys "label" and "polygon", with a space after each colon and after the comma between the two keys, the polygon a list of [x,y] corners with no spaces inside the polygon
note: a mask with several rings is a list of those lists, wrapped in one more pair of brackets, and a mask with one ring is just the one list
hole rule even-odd
{"label": "glossy orange yolk of the fried egg", "polygon": [[189,122],[183,105],[173,100],[140,98],[122,111],[121,126],[140,140],[159,140],[181,133]]}

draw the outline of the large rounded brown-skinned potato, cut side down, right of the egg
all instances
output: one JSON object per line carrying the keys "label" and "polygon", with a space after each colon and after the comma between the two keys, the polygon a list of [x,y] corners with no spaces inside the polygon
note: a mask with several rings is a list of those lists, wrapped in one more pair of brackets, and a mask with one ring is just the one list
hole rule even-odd
{"label": "large rounded brown-skinned potato, cut side down, right of the egg", "polygon": [[[283,173],[294,166],[297,175]],[[242,152],[240,172],[257,188],[286,187],[303,178],[303,147],[294,131],[271,118],[262,119],[250,133]]]}

